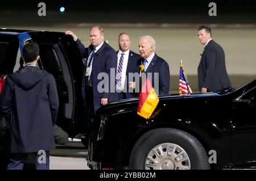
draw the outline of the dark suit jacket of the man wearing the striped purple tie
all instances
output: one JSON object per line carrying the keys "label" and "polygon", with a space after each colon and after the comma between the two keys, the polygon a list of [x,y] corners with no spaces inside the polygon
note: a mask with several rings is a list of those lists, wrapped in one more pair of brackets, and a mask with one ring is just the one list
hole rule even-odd
{"label": "dark suit jacket of the man wearing the striped purple tie", "polygon": [[[117,51],[118,53],[118,51]],[[126,85],[125,85],[125,90],[126,92],[126,98],[130,99],[130,98],[135,98],[136,96],[138,96],[137,93],[134,92],[133,89],[129,89],[129,82],[134,82],[134,78],[133,79],[129,79],[129,73],[136,73],[137,72],[137,62],[138,60],[141,58],[141,56],[133,51],[129,51],[129,57],[128,57],[128,63],[127,63],[127,68],[126,68]]]}

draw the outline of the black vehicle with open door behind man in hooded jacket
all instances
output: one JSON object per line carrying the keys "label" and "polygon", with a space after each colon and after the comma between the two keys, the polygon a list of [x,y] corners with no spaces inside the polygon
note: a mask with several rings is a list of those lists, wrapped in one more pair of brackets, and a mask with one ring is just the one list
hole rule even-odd
{"label": "black vehicle with open door behind man in hooded jacket", "polygon": [[55,77],[59,93],[56,124],[73,138],[81,128],[82,57],[71,36],[63,32],[0,29],[0,75],[20,67],[20,56],[27,42],[38,43],[38,67]]}

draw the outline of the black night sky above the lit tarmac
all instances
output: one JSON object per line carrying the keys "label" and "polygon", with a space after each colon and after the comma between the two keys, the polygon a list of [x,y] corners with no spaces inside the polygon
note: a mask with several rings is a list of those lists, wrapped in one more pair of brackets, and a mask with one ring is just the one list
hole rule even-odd
{"label": "black night sky above the lit tarmac", "polygon": [[[152,0],[150,0],[152,1]],[[38,3],[46,3],[47,16],[37,16]],[[217,16],[209,16],[210,2]],[[61,6],[65,12],[60,12]],[[0,24],[60,23],[256,23],[254,1],[4,1]]]}

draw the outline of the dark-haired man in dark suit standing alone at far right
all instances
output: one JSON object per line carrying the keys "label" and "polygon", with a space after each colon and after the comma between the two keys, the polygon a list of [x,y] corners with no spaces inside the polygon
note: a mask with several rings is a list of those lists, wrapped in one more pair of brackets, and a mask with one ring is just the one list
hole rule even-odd
{"label": "dark-haired man in dark suit standing alone at far right", "polygon": [[199,91],[207,93],[228,89],[231,83],[226,71],[224,50],[212,40],[212,31],[209,27],[200,26],[198,37],[204,45],[197,69]]}

